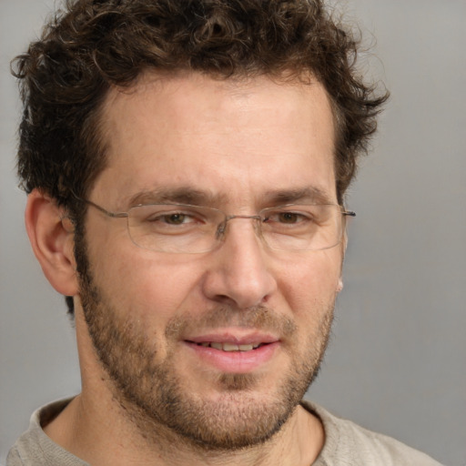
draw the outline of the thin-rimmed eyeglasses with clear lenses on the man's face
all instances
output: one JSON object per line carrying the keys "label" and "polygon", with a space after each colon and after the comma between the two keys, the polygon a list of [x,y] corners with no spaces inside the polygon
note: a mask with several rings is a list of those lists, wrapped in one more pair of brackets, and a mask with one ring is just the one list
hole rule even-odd
{"label": "thin-rimmed eyeglasses with clear lenses on the man's face", "polygon": [[127,212],[110,212],[90,200],[78,200],[107,217],[127,218],[129,237],[139,248],[170,253],[197,254],[217,248],[234,218],[254,220],[258,237],[268,248],[329,249],[341,242],[346,217],[356,216],[336,204],[289,204],[264,208],[258,215],[227,215],[218,208],[184,204],[139,205]]}

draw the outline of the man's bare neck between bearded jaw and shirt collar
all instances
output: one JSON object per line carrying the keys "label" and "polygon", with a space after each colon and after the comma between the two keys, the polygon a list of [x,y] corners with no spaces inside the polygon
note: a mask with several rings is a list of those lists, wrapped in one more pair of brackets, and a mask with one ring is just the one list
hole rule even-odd
{"label": "man's bare neck between bearded jaw and shirt collar", "polygon": [[[150,423],[141,431],[110,400],[83,393],[46,426],[46,434],[89,464],[157,466],[309,466],[324,443],[320,421],[298,407],[272,439],[235,451],[209,451]],[[149,429],[149,423],[147,423]]]}

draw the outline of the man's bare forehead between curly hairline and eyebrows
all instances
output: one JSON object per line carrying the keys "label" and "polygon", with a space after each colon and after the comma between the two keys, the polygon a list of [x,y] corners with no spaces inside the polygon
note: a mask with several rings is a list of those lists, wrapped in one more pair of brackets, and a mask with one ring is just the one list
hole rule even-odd
{"label": "man's bare forehead between curly hairline and eyebrows", "polygon": [[96,189],[121,207],[161,189],[238,202],[309,188],[335,198],[333,117],[317,81],[147,74],[110,91],[102,122],[108,162]]}

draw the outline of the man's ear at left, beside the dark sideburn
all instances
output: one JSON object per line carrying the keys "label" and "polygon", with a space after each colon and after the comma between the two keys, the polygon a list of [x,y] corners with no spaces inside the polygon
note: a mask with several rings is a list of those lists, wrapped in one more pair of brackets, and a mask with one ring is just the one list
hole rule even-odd
{"label": "man's ear at left, beside the dark sideburn", "polygon": [[62,295],[78,292],[74,231],[63,208],[35,189],[25,208],[25,228],[46,279]]}

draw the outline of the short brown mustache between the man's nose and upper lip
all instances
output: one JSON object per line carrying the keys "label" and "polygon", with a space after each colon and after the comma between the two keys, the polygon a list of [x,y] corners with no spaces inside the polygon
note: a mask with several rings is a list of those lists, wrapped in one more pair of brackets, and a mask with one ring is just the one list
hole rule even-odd
{"label": "short brown mustache between the man's nose and upper lip", "polygon": [[174,316],[167,322],[165,336],[167,339],[177,339],[199,329],[206,331],[221,327],[256,329],[280,337],[290,337],[297,330],[293,319],[280,315],[268,306],[238,309],[223,305],[208,309],[201,315],[198,315],[198,312],[189,312],[183,316]]}

